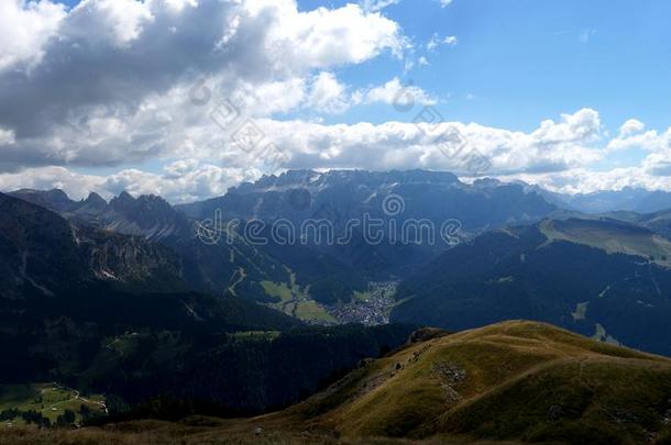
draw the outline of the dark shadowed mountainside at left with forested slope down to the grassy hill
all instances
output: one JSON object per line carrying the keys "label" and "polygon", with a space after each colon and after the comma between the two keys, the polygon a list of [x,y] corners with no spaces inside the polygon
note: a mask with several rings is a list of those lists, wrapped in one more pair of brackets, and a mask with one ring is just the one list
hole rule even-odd
{"label": "dark shadowed mountainside at left with forested slope down to the grassy hill", "polygon": [[186,290],[179,262],[144,237],[0,194],[0,349],[12,358],[0,382],[59,381],[129,403],[170,396],[256,413],[298,401],[410,331],[301,330],[231,292]]}

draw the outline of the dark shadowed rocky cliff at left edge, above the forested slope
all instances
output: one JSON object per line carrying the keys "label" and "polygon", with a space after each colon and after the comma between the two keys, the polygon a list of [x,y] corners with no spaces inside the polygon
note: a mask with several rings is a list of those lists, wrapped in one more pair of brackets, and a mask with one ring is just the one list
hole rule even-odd
{"label": "dark shadowed rocky cliff at left edge, above the forested slope", "polygon": [[54,296],[91,280],[179,285],[179,262],[142,238],[79,229],[35,204],[0,194],[0,297]]}

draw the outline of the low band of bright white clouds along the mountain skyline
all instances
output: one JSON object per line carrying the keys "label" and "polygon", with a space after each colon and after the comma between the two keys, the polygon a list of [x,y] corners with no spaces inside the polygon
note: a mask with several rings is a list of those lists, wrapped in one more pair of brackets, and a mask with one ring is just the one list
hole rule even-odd
{"label": "low band of bright white clouds along the mountain skyline", "polygon": [[[418,110],[419,107],[415,107],[414,111]],[[440,133],[428,124],[326,125],[273,119],[257,119],[256,124],[268,141],[287,154],[286,168],[426,168],[469,175],[459,157],[440,148],[437,137]],[[671,189],[671,151],[668,148],[650,152],[640,166],[606,171],[595,169],[594,166],[607,159],[610,152],[603,148],[601,119],[591,109],[562,114],[557,121],[542,121],[538,129],[528,133],[474,123],[446,125],[464,136],[463,153],[477,149],[491,162],[492,167],[486,171],[490,176],[522,179],[562,192],[623,187]],[[1,174],[0,189],[61,187],[76,197],[88,190],[110,196],[127,189],[135,194],[151,192],[173,202],[186,202],[222,194],[228,187],[253,180],[264,171],[264,159],[222,142],[217,133],[204,127],[190,129],[188,135],[188,141],[176,148],[174,159],[166,163],[163,173],[125,169],[109,176],[91,176],[63,167],[40,167]],[[221,165],[227,167],[219,167]]]}

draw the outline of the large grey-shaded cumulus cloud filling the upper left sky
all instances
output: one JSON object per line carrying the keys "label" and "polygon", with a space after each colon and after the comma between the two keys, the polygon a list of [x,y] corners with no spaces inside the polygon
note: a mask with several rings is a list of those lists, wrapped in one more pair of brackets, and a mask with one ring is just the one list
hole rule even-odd
{"label": "large grey-shaded cumulus cloud filling the upper left sky", "polygon": [[[3,168],[169,157],[211,124],[210,110],[188,100],[200,79],[212,96],[254,98],[251,112],[267,115],[301,105],[314,71],[407,45],[397,23],[356,4],[306,12],[294,0],[85,0],[68,12],[48,0],[9,4],[25,23],[3,27],[4,41],[50,25],[26,44],[0,46],[0,126],[15,140]],[[314,94],[329,80],[336,85],[318,77]]]}

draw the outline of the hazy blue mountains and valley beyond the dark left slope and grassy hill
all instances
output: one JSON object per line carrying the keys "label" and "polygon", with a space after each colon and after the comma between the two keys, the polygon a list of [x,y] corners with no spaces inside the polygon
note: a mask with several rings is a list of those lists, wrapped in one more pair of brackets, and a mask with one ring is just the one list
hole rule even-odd
{"label": "hazy blue mountains and valley beyond the dark left slope and grassy hill", "polygon": [[[168,275],[185,289],[238,296],[311,323],[338,322],[343,312],[377,320],[381,311],[392,320],[447,329],[531,318],[666,353],[666,345],[650,344],[645,335],[630,337],[626,332],[637,324],[622,323],[610,312],[634,311],[640,320],[648,312],[653,318],[663,313],[669,264],[662,258],[671,256],[668,211],[581,213],[572,210],[586,202],[578,196],[550,196],[538,187],[495,179],[469,185],[449,173],[422,170],[292,170],[242,183],[221,198],[175,207],[161,197],[127,192],[109,203],[95,193],[74,201],[61,190],[11,194],[57,212],[80,232],[143,238],[164,256],[172,254]],[[661,194],[624,189],[601,196],[631,208],[634,201]],[[398,200],[394,213],[385,208],[389,198]],[[566,204],[559,207],[561,202]],[[265,223],[258,233],[268,242],[250,243],[241,229],[234,236],[227,233],[226,241],[204,242],[198,231],[217,215],[220,224]],[[385,223],[422,220],[433,227],[458,221],[459,227],[450,244],[371,243],[362,230],[350,233],[344,244],[279,243],[268,229],[278,221],[294,227],[327,221],[342,236],[348,222],[366,216]],[[532,259],[520,259],[527,257]],[[574,257],[581,258],[581,268]],[[609,275],[587,279],[581,270]],[[371,294],[374,282],[398,282],[399,291],[385,304],[374,301],[369,305],[377,308],[361,309],[360,300]],[[603,298],[605,289],[618,297]]]}

